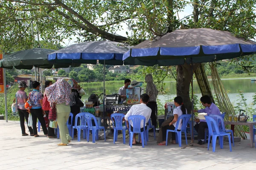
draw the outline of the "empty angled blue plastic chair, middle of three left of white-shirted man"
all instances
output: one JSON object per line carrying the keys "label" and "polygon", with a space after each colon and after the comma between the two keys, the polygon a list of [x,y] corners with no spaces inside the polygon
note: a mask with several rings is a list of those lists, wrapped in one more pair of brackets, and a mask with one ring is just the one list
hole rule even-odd
{"label": "empty angled blue plastic chair, middle of three left of white-shirted man", "polygon": [[[86,119],[87,127],[88,127],[87,128],[87,142],[89,142],[90,130],[92,130],[93,143],[95,143],[95,136],[96,136],[96,140],[99,140],[99,130],[101,130],[101,129],[104,130],[103,131],[104,132],[104,139],[106,141],[105,127],[98,125],[97,119],[96,119],[95,116],[93,116],[93,114],[86,113],[86,112],[83,113],[83,114],[84,114],[84,117]],[[92,119],[94,120],[96,126],[93,126]]]}

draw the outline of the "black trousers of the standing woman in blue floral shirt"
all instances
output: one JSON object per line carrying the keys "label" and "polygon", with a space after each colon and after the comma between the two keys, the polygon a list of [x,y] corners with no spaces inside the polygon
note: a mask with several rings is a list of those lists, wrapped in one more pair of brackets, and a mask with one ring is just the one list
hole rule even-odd
{"label": "black trousers of the standing woman in blue floral shirt", "polygon": [[40,109],[30,109],[30,113],[31,113],[31,116],[32,116],[32,121],[33,121],[33,132],[34,132],[34,135],[38,134],[37,133],[37,128],[36,128],[37,119],[41,123],[41,126],[43,128],[44,134],[47,135],[48,134],[48,130],[47,130],[47,127],[45,125],[45,120],[44,120],[42,108],[40,108]]}

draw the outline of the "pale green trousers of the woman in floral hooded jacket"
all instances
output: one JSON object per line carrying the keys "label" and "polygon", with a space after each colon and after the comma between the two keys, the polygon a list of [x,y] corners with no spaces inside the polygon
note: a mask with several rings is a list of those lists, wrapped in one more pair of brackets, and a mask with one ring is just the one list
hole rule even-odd
{"label": "pale green trousers of the woman in floral hooded jacket", "polygon": [[[65,112],[64,112],[65,111]],[[56,105],[57,123],[60,130],[61,143],[68,144],[68,141],[72,139],[67,129],[67,120],[70,116],[70,106],[63,104]]]}

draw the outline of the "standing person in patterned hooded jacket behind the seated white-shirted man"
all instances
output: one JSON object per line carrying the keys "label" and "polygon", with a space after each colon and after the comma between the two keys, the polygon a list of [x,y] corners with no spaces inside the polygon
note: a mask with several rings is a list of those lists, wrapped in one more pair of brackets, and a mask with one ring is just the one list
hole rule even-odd
{"label": "standing person in patterned hooded jacket behind the seated white-shirted man", "polygon": [[[149,96],[149,102],[147,104],[147,106],[149,108],[151,108],[152,112],[151,112],[151,121],[152,121],[152,125],[154,127],[157,127],[157,95],[158,95],[158,91],[157,91],[157,87],[153,82],[153,76],[152,74],[147,74],[145,76],[145,82],[147,83],[146,86],[146,94],[148,94]],[[148,130],[149,132],[153,132],[153,129]]]}

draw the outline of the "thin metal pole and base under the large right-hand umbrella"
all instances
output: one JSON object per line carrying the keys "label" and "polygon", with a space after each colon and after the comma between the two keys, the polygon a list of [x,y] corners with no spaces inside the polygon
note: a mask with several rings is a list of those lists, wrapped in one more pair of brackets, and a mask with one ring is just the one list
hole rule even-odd
{"label": "thin metal pole and base under the large right-hand umbrella", "polygon": [[[200,145],[194,142],[194,95],[193,95],[193,62],[192,62],[192,58],[191,58],[191,71],[192,71],[192,78],[191,78],[191,90],[192,90],[192,94],[191,94],[191,125],[192,125],[192,133],[191,133],[191,142],[189,144],[187,144],[184,147],[181,147],[181,149],[185,149],[186,147],[189,146],[199,146],[199,147],[206,147],[204,145]],[[191,127],[190,127],[191,128]]]}

